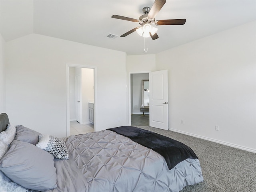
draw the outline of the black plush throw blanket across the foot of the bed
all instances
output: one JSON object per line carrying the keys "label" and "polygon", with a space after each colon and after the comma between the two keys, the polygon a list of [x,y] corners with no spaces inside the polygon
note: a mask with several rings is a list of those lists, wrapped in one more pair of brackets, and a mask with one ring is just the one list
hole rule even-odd
{"label": "black plush throw blanket across the foot of the bed", "polygon": [[185,144],[166,136],[132,126],[108,129],[126,136],[134,142],[158,152],[164,157],[169,169],[187,158],[198,158],[194,151]]}

